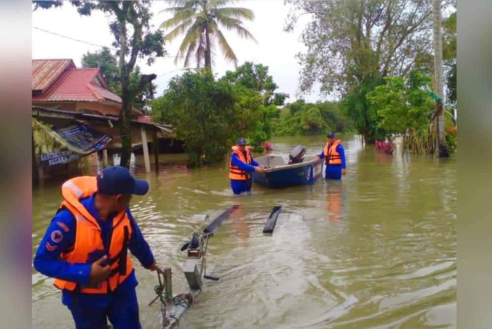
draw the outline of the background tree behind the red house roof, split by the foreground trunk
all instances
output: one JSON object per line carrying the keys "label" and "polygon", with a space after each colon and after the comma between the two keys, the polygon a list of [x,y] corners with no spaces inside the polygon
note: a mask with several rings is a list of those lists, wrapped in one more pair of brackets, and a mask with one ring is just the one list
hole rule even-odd
{"label": "background tree behind the red house roof, split by the foreground trunk", "polygon": [[[108,83],[109,89],[115,94],[121,95],[121,82],[118,78],[118,58],[111,54],[111,51],[107,47],[93,53],[87,52],[87,54],[82,55],[81,62],[82,67],[99,68],[104,80]],[[140,82],[141,75],[140,67],[135,65],[130,75],[130,84],[133,85],[133,88]],[[154,99],[154,90],[156,87],[152,82],[146,84],[142,91],[135,96],[133,105],[146,113],[149,101]]]}

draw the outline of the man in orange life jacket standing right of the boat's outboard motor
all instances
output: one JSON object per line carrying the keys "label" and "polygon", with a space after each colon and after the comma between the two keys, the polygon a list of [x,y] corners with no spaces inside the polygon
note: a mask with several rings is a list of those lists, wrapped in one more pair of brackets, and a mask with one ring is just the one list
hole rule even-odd
{"label": "man in orange life jacket standing right of the boat's outboard motor", "polygon": [[345,151],[341,140],[335,140],[333,132],[326,135],[326,140],[323,151],[316,158],[325,159],[325,179],[341,179],[341,175],[345,175]]}

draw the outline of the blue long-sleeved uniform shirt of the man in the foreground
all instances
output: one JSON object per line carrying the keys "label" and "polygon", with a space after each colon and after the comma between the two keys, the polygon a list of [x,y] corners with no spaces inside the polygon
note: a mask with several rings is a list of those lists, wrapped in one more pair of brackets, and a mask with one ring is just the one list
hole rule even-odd
{"label": "blue long-sleeved uniform shirt of the man in the foreground", "polygon": [[[99,226],[101,227],[101,238],[103,243],[106,244],[110,225],[117,213],[111,214],[105,221],[99,219],[94,207],[94,195],[95,193],[82,200],[81,203],[99,223]],[[144,267],[148,267],[154,263],[154,255],[148,243],[145,241],[135,219],[131,216],[129,208],[126,208],[126,214],[128,215],[132,229],[131,237],[128,242],[128,249],[135,257],[137,257]],[[91,264],[70,264],[60,257],[60,254],[63,251],[67,251],[74,246],[75,228],[75,219],[67,209],[62,209],[51,220],[51,223],[39,244],[36,255],[34,256],[34,268],[39,273],[80,284],[89,283]],[[133,288],[137,284],[135,271],[133,270],[120,284],[118,289]],[[64,298],[66,297],[66,294],[69,294],[69,292],[63,291]]]}

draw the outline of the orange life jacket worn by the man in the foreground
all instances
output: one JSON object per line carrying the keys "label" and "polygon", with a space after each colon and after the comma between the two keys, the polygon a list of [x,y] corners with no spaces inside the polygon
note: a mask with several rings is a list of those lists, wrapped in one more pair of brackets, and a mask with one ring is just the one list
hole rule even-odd
{"label": "orange life jacket worn by the man in the foreground", "polygon": [[106,254],[106,264],[111,266],[111,274],[105,281],[95,285],[78,285],[76,282],[56,278],[54,285],[60,289],[73,291],[76,288],[86,294],[106,294],[114,291],[116,287],[131,273],[133,267],[127,255],[128,242],[131,237],[131,225],[126,211],[119,212],[113,219],[112,229],[109,233],[110,241],[107,248],[101,237],[101,228],[97,220],[80,203],[80,200],[91,196],[97,191],[96,178],[93,176],[80,176],[72,178],[62,185],[63,201],[60,209],[66,208],[75,218],[75,243],[73,250],[62,252],[60,255],[66,262],[92,263],[89,255],[94,251]]}

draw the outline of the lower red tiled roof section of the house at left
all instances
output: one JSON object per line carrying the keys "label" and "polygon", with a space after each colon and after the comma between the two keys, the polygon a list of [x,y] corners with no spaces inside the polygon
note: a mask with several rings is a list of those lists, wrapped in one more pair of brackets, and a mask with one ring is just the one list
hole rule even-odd
{"label": "lower red tiled roof section of the house at left", "polygon": [[32,97],[32,102],[100,102],[110,100],[122,103],[118,95],[94,83],[97,80],[105,85],[98,68],[67,69],[45,93]]}

